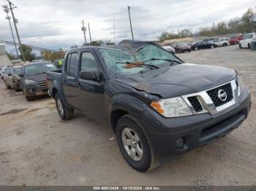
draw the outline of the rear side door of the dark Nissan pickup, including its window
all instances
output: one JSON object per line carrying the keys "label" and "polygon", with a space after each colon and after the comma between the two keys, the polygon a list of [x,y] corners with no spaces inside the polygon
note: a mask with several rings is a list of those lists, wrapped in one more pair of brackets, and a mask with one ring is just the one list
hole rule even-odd
{"label": "rear side door of the dark Nissan pickup, including its window", "polygon": [[78,52],[70,52],[65,62],[62,87],[67,102],[76,108],[78,101]]}

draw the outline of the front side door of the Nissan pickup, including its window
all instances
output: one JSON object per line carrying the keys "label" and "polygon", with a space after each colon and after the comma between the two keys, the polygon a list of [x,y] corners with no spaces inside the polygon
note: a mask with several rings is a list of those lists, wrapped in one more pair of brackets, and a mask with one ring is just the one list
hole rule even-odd
{"label": "front side door of the Nissan pickup, including its window", "polygon": [[[101,73],[99,61],[93,51],[80,53],[80,71],[95,71],[97,77]],[[82,79],[78,77],[78,109],[82,110],[87,117],[95,119],[99,122],[107,122],[105,109],[105,89],[104,81],[99,79]]]}

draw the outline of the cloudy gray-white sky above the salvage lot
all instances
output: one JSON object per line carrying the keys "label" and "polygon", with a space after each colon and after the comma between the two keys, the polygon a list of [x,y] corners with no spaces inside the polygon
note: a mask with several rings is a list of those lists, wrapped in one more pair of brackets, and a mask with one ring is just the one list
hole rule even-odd
{"label": "cloudy gray-white sky above the salvage lot", "polygon": [[[241,17],[255,0],[12,0],[21,41],[58,50],[83,44],[81,20],[91,26],[92,40],[131,39],[127,5],[135,39],[154,40],[162,31],[209,26]],[[4,1],[1,1],[4,4]],[[12,40],[6,13],[0,9],[0,40]],[[89,35],[87,34],[89,41]]]}

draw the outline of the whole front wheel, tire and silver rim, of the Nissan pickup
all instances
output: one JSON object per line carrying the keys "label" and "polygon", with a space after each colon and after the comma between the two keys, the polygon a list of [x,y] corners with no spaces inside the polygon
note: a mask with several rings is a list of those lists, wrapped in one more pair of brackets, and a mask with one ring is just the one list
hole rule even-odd
{"label": "whole front wheel, tire and silver rim, of the Nissan pickup", "polygon": [[[130,132],[128,134],[132,135],[133,141],[131,141],[129,136],[127,136],[127,130]],[[135,140],[136,137],[139,141]],[[140,172],[151,171],[154,168],[157,168],[157,166],[160,164],[159,157],[151,147],[150,141],[145,131],[143,130],[143,127],[134,117],[130,116],[129,114],[122,116],[118,120],[116,125],[116,139],[124,159],[135,170]],[[133,146],[125,145],[125,141],[123,140],[128,140],[128,143],[133,144]],[[135,153],[135,158],[130,156],[132,154],[128,154],[127,149],[130,149],[130,153],[132,149],[135,149],[135,152],[133,152]],[[138,150],[141,151],[140,155]]]}

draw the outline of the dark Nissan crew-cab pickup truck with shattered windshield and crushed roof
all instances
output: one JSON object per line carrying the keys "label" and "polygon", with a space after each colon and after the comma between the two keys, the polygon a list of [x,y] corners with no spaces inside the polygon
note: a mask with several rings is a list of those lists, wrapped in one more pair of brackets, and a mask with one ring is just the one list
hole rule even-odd
{"label": "dark Nissan crew-cab pickup truck with shattered windshield and crushed roof", "polygon": [[138,171],[226,136],[251,106],[236,71],[184,63],[152,42],[69,50],[47,79],[61,119],[78,109],[108,124]]}

